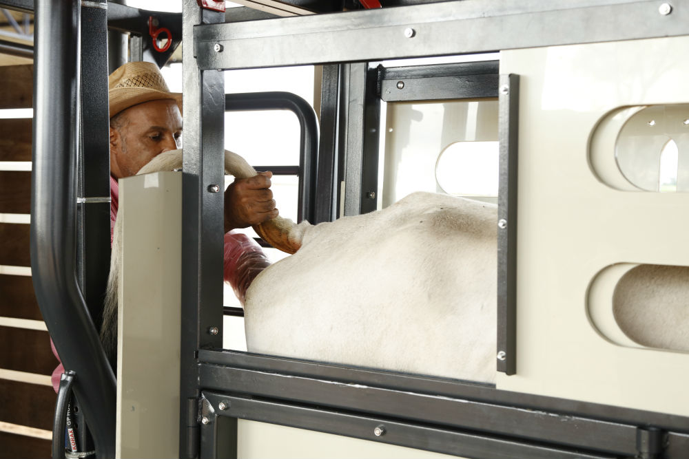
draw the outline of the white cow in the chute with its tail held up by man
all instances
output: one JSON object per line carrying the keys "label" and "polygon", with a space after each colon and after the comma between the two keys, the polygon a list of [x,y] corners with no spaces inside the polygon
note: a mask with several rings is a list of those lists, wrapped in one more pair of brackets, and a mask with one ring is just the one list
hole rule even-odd
{"label": "white cow in the chute with its tail held up by man", "polygon": [[[176,169],[181,162],[181,150],[169,151],[139,173]],[[256,174],[230,152],[225,169],[238,178]],[[413,193],[382,211],[336,222],[296,225],[278,217],[255,226],[273,246],[296,253],[260,273],[247,292],[248,350],[495,381],[496,222],[491,204]],[[119,231],[117,225],[116,254]],[[111,358],[116,352],[118,256],[112,257],[101,332]],[[655,275],[643,275],[644,269]],[[671,295],[677,301],[670,315],[650,329],[649,317],[661,314],[648,304],[664,304],[657,290],[666,284],[675,289]],[[689,268],[670,274],[637,268],[618,285],[617,321],[641,344],[662,347],[669,339],[672,348],[689,350],[687,295]],[[681,326],[668,327],[668,317]]]}

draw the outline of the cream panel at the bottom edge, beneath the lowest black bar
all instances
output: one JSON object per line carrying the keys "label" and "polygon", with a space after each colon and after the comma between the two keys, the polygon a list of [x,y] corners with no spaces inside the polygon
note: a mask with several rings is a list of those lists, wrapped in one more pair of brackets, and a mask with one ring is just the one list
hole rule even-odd
{"label": "cream panel at the bottom edge, beneath the lowest black bar", "polygon": [[295,427],[258,423],[240,419],[238,422],[237,457],[252,458],[455,458],[388,445],[371,440],[360,440],[333,434],[324,434]]}

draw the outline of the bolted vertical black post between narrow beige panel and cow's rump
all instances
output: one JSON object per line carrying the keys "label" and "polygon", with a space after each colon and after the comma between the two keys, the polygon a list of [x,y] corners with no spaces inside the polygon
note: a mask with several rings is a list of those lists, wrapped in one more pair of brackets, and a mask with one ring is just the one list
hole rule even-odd
{"label": "bolted vertical black post between narrow beige panel and cow's rump", "polygon": [[[182,314],[180,457],[198,455],[198,425],[189,403],[198,398],[199,348],[223,344],[223,193],[209,186],[224,182],[225,79],[200,72],[194,56],[194,25],[217,23],[225,14],[183,3],[183,89],[185,93],[182,189]],[[212,52],[222,52],[222,47]],[[211,334],[210,330],[217,330]]]}

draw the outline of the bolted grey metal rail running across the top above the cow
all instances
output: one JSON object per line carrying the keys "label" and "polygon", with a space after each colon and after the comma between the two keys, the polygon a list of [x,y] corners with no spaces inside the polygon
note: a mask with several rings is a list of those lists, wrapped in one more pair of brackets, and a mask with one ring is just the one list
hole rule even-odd
{"label": "bolted grey metal rail running across the top above the cow", "polygon": [[[200,70],[446,56],[689,34],[689,1],[472,0],[196,25]],[[664,10],[666,12],[666,10]]]}

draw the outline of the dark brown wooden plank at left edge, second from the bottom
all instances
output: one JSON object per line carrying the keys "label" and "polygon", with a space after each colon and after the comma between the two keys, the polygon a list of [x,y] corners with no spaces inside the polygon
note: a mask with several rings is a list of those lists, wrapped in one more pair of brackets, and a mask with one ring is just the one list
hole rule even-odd
{"label": "dark brown wooden plank at left edge, second from the bottom", "polygon": [[47,385],[0,379],[0,420],[52,431],[56,398]]}

